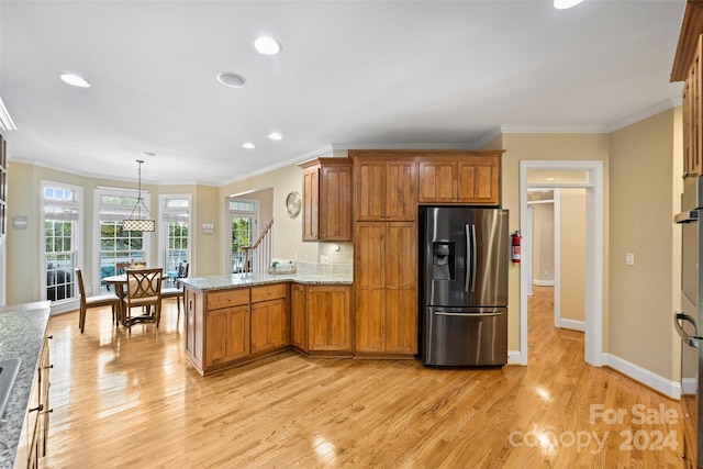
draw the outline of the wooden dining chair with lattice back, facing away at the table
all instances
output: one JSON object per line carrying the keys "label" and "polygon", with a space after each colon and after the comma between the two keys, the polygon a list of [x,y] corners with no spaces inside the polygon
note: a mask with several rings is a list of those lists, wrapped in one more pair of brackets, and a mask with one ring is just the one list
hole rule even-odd
{"label": "wooden dining chair with lattice back, facing away at the table", "polygon": [[[132,332],[136,322],[154,322],[156,327],[161,319],[161,281],[164,269],[126,269],[127,281],[123,299],[124,323]],[[146,310],[146,314],[132,316],[132,309]]]}

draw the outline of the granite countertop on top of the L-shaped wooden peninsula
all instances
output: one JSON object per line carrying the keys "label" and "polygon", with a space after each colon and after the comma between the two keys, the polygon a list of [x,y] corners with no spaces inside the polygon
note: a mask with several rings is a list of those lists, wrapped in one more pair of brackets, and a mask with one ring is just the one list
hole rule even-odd
{"label": "granite countertop on top of the L-shaped wooden peninsula", "polygon": [[181,283],[196,290],[224,290],[267,283],[352,284],[352,273],[232,273],[228,276],[188,277]]}

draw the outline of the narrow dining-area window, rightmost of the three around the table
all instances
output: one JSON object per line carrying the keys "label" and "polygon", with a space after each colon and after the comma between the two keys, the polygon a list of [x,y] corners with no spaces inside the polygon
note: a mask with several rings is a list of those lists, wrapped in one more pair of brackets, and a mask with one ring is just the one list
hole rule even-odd
{"label": "narrow dining-area window, rightmost of the three around the table", "polygon": [[190,194],[159,197],[164,270],[171,282],[178,265],[190,261]]}

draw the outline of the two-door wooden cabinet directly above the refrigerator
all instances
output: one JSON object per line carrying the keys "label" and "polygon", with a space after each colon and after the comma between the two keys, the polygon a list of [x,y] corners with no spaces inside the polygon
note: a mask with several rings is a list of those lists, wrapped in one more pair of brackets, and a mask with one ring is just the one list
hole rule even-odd
{"label": "two-door wooden cabinet directly above the refrigerator", "polygon": [[419,157],[417,201],[500,205],[501,154],[447,150]]}

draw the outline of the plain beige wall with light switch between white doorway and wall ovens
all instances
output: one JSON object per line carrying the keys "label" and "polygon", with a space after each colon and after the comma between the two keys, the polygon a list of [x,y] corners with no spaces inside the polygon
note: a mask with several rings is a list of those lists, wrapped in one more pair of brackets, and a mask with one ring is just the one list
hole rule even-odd
{"label": "plain beige wall with light switch between white doorway and wall ovens", "polygon": [[[679,297],[671,279],[680,269],[672,200],[681,190],[674,168],[682,168],[681,156],[672,158],[674,118],[669,110],[611,134],[610,185],[609,353],[671,379],[678,376],[672,304]],[[626,253],[635,255],[634,266],[625,265]]]}

